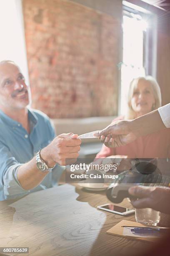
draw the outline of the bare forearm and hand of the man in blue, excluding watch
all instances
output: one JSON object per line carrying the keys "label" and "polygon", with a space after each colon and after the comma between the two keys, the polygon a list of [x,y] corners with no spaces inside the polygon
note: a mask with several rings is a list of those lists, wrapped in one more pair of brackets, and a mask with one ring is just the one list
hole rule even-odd
{"label": "bare forearm and hand of the man in blue, excluding watch", "polygon": [[[81,144],[77,136],[73,133],[63,133],[41,150],[41,158],[49,168],[53,168],[55,164],[66,165],[76,161]],[[17,177],[23,189],[30,190],[37,187],[48,173],[48,171],[41,172],[37,168],[36,158],[33,157],[18,168]]]}

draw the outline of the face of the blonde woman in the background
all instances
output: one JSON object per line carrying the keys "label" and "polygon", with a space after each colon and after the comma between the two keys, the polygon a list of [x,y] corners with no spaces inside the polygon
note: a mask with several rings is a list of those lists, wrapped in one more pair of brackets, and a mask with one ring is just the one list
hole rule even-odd
{"label": "face of the blonde woman in the background", "polygon": [[133,110],[137,115],[144,115],[153,110],[153,104],[155,104],[155,98],[150,82],[139,80],[131,99]]}

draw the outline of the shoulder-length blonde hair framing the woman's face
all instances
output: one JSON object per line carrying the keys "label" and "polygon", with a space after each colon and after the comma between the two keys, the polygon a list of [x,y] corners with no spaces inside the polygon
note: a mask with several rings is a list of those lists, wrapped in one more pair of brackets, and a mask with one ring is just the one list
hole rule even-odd
{"label": "shoulder-length blonde hair framing the woman's face", "polygon": [[129,87],[129,91],[128,91],[128,111],[127,111],[127,114],[125,115],[126,119],[134,119],[135,118],[135,111],[132,108],[131,100],[133,97],[134,90],[137,87],[137,84],[140,80],[149,82],[151,85],[151,88],[153,90],[155,104],[153,106],[152,111],[157,108],[160,108],[160,106],[161,106],[161,92],[160,92],[160,87],[159,87],[158,82],[151,76],[137,77],[130,82],[130,87]]}

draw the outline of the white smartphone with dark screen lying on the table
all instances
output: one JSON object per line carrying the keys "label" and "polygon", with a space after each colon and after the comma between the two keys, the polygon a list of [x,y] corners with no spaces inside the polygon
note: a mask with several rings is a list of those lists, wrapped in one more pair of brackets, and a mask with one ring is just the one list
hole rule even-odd
{"label": "white smartphone with dark screen lying on the table", "polygon": [[124,207],[120,207],[120,206],[117,206],[117,205],[111,205],[111,204],[99,205],[99,206],[97,206],[97,208],[100,209],[100,210],[104,210],[104,211],[107,211],[107,212],[112,212],[112,213],[119,214],[119,215],[122,215],[122,216],[135,213],[135,210],[133,210],[133,209],[124,208]]}

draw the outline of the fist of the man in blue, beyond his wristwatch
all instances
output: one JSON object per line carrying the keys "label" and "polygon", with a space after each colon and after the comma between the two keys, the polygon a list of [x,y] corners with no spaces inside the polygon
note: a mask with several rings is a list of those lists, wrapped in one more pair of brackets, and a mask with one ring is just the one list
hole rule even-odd
{"label": "fist of the man in blue, beyond his wristwatch", "polygon": [[[80,151],[81,140],[77,138],[77,134],[63,133],[45,148],[41,150],[41,157],[49,167],[55,164],[67,165],[72,164],[78,157]],[[66,159],[69,159],[66,162]]]}

